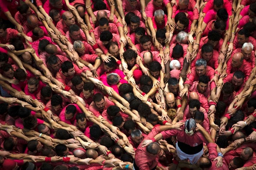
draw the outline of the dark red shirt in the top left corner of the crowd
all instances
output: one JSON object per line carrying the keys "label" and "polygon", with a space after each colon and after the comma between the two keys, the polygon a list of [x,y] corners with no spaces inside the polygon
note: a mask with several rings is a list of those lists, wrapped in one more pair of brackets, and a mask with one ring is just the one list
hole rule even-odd
{"label": "dark red shirt in the top left corner of the crowd", "polygon": [[[25,2],[25,0],[22,0],[23,2]],[[12,17],[15,16],[17,10],[17,7],[20,6],[20,1],[19,0],[12,0],[11,2],[7,1],[7,0],[0,0],[0,9],[1,9],[1,13],[0,16],[2,19],[4,20],[8,20],[7,16],[5,16],[5,12],[10,12]]]}

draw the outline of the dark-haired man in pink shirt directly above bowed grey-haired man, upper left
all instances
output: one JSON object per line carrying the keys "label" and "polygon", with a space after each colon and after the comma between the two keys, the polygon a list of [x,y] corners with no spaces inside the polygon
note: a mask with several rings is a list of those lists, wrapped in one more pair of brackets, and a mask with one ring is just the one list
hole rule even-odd
{"label": "dark-haired man in pink shirt directly above bowed grey-haired man, upper left", "polygon": [[79,28],[78,25],[74,24],[69,27],[69,31],[66,32],[66,38],[69,41],[69,44],[66,45],[69,47],[74,44],[74,41],[87,41],[86,35],[83,30]]}

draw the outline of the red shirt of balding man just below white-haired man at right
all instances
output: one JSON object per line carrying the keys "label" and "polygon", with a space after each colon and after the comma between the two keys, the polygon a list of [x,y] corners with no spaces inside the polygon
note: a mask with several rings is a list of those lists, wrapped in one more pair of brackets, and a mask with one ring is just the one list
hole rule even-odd
{"label": "red shirt of balding man just below white-haired man at right", "polygon": [[244,73],[245,81],[247,81],[252,71],[252,65],[246,60],[243,60],[243,63],[239,68],[232,67],[231,63],[232,63],[232,57],[227,62],[227,74],[234,73],[235,71],[239,70]]}

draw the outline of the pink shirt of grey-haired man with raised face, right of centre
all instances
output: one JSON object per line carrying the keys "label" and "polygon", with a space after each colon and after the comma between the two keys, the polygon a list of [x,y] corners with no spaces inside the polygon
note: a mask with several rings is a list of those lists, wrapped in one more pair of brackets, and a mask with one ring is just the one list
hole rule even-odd
{"label": "pink shirt of grey-haired man with raised face, right of centre", "polygon": [[[208,76],[210,80],[214,77],[214,69],[208,65],[206,66],[206,76]],[[198,80],[199,80],[199,76],[194,67],[191,69],[191,73],[190,75],[188,75],[188,80],[186,80],[184,84],[189,84],[191,86],[194,81],[198,81]],[[212,81],[210,85],[211,90],[214,89],[215,87],[216,87],[215,82]]]}

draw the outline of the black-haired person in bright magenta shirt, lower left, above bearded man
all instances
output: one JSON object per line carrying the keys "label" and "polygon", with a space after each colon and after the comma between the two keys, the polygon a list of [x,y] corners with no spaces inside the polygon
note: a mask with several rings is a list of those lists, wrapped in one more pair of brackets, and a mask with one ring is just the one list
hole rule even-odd
{"label": "black-haired person in bright magenta shirt, lower left, above bearded man", "polygon": [[67,124],[74,124],[75,116],[82,110],[76,104],[70,104],[64,107],[59,114],[59,119]]}

